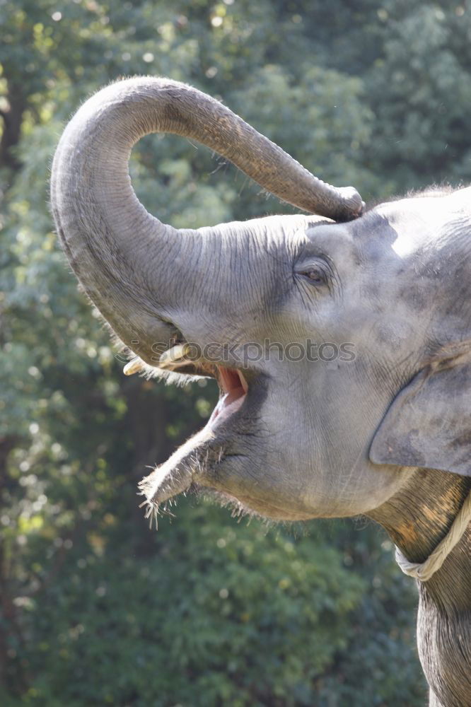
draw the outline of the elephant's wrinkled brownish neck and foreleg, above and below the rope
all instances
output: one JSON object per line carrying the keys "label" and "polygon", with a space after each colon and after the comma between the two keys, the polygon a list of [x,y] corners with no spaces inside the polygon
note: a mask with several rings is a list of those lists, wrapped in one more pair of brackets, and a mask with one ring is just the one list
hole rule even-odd
{"label": "elephant's wrinkled brownish neck and foreleg, above and below the rope", "polygon": [[[450,530],[471,479],[417,469],[400,493],[368,513],[412,562],[423,562]],[[417,647],[431,704],[469,707],[471,696],[471,524],[440,569],[417,581]]]}

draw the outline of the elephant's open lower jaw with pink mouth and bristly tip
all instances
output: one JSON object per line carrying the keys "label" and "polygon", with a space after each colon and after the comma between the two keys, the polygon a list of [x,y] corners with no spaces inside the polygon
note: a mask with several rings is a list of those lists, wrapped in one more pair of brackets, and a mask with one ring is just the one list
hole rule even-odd
{"label": "elephant's open lower jaw with pink mouth and bristly tip", "polygon": [[207,424],[139,483],[140,493],[146,497],[141,506],[147,506],[146,518],[151,524],[161,503],[187,491],[194,481],[202,480],[210,464],[221,462],[223,445],[216,442],[216,433],[243,406],[248,382],[236,368],[216,366],[216,372],[221,397]]}

